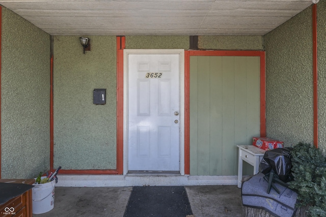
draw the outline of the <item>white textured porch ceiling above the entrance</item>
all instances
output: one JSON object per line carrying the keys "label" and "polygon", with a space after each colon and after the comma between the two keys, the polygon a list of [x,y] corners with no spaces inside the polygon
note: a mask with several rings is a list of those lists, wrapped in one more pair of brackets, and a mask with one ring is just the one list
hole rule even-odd
{"label": "white textured porch ceiling above the entrance", "polygon": [[0,0],[53,36],[265,35],[310,0]]}

